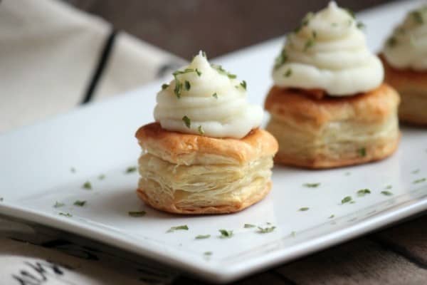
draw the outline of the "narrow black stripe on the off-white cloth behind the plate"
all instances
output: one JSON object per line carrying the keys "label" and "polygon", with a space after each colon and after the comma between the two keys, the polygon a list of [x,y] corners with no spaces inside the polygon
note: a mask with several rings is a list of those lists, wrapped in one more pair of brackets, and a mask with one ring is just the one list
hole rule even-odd
{"label": "narrow black stripe on the off-white cloth behind the plate", "polygon": [[95,71],[93,71],[92,77],[90,78],[88,88],[86,88],[85,95],[80,104],[85,104],[90,102],[93,98],[93,94],[95,93],[97,84],[100,81],[102,73],[105,71],[105,66],[107,66],[108,59],[110,58],[112,48],[115,43],[115,37],[117,36],[117,31],[113,28],[105,41],[104,48],[100,53],[100,58],[97,61],[97,65]]}

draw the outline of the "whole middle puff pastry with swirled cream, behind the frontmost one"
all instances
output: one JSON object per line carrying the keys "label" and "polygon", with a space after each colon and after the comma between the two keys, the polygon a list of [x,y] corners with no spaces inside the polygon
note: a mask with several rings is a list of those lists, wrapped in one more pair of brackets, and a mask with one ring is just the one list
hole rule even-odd
{"label": "whole middle puff pastry with swirled cream, behind the frontmost one", "polygon": [[399,142],[399,95],[365,43],[354,15],[334,1],[290,33],[265,100],[275,161],[340,167],[391,155]]}

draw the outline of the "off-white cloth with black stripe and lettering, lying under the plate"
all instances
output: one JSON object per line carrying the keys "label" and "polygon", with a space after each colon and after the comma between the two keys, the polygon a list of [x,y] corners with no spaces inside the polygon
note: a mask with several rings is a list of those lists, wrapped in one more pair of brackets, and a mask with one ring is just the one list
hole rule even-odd
{"label": "off-white cloth with black stripe and lettering, lying under the plate", "polygon": [[[124,93],[183,63],[61,1],[0,1],[0,134]],[[1,284],[166,284],[176,275],[38,227],[0,219]]]}

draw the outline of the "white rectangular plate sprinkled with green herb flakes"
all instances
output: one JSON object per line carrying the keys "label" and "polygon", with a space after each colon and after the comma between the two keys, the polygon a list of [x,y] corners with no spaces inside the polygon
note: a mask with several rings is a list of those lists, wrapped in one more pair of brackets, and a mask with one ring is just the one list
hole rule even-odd
{"label": "white rectangular plate sprinkled with green herb flakes", "polygon": [[[378,50],[394,23],[418,4],[421,1],[397,2],[359,14],[367,25],[369,46]],[[282,43],[283,38],[268,41],[216,63],[245,79],[249,100],[262,104]],[[152,121],[162,83],[1,135],[0,214],[74,232],[225,282],[427,209],[427,131],[408,127],[403,128],[398,152],[382,162],[322,171],[275,167],[270,195],[237,214],[189,217],[150,209],[135,195],[137,172],[126,170],[136,165],[140,150],[134,133]],[[86,181],[92,190],[83,188]],[[371,194],[358,197],[357,191],[366,188]],[[393,195],[381,194],[386,188]],[[347,196],[354,203],[342,204]],[[84,207],[73,206],[78,199],[87,201]],[[56,202],[65,205],[53,207]],[[302,207],[309,209],[299,211]],[[139,210],[147,215],[127,214]],[[188,231],[167,233],[183,224]],[[244,224],[275,230],[260,234]],[[219,238],[218,229],[233,230],[233,237]],[[195,239],[198,234],[211,237]]]}

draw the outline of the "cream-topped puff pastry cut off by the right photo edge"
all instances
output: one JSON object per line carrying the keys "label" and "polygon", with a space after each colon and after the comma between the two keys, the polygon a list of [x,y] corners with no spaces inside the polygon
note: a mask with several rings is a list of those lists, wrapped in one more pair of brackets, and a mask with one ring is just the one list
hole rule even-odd
{"label": "cream-topped puff pastry cut off by the right photo edge", "polygon": [[427,125],[427,5],[411,11],[384,44],[385,81],[401,95],[399,118]]}

